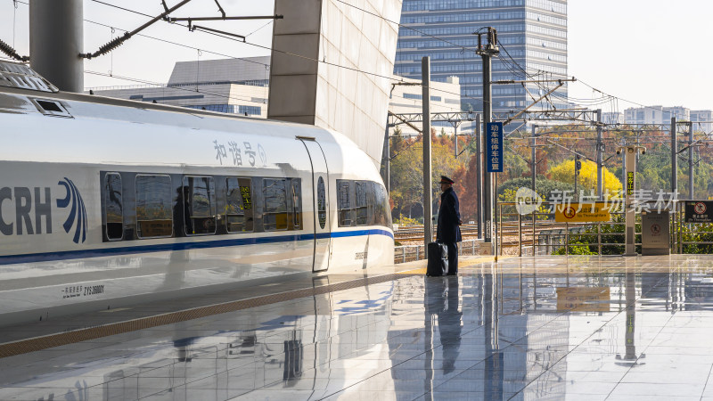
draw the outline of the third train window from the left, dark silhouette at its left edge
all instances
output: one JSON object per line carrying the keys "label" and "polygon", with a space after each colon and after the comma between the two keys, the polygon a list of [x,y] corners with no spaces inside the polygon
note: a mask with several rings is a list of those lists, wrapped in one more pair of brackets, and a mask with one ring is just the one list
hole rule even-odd
{"label": "third train window from the left, dark silhouette at its left edge", "polygon": [[184,176],[186,235],[216,233],[216,184],[212,176]]}

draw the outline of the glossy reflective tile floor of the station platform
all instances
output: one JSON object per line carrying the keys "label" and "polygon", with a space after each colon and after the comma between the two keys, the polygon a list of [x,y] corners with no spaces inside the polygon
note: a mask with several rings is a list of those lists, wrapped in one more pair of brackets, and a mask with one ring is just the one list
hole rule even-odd
{"label": "glossy reflective tile floor of the station platform", "polygon": [[506,258],[0,359],[0,399],[713,400],[713,257]]}

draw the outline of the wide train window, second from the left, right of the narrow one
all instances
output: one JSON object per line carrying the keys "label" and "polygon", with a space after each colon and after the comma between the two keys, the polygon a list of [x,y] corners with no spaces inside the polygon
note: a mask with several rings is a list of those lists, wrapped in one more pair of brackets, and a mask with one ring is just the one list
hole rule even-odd
{"label": "wide train window, second from the left, right of the narrow one", "polygon": [[171,177],[136,175],[136,233],[139,238],[170,237]]}

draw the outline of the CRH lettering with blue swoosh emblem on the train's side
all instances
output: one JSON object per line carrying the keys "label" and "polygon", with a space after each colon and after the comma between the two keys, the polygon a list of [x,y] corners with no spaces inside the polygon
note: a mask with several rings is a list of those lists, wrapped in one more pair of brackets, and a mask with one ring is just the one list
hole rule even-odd
{"label": "CRH lettering with blue swoosh emblem on the train's side", "polygon": [[[56,201],[57,208],[70,209],[69,216],[63,225],[64,231],[70,233],[74,227],[72,241],[74,243],[79,243],[80,240],[84,242],[86,241],[87,224],[82,196],[79,194],[77,186],[67,177],[57,184],[63,186],[67,192],[64,199]],[[52,199],[52,190],[49,187],[6,186],[0,188],[0,233],[3,235],[41,234],[43,226],[45,233],[52,233]],[[5,201],[8,201],[7,203],[10,203],[11,206],[5,206],[3,209]],[[12,210],[12,203],[14,203],[14,210]],[[12,211],[14,211],[14,216],[12,216]]]}

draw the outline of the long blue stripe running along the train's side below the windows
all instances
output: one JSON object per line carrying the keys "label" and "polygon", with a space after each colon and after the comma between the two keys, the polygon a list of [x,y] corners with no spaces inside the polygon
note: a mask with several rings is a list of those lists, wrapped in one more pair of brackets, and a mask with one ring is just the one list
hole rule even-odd
{"label": "long blue stripe running along the train's side below the windows", "polygon": [[15,263],[47,262],[52,260],[66,260],[78,258],[100,258],[108,256],[129,255],[146,252],[163,252],[168,250],[202,250],[206,248],[237,247],[242,245],[259,245],[264,243],[310,241],[325,238],[359,237],[364,235],[386,235],[394,238],[394,234],[386,230],[358,230],[340,231],[333,233],[279,235],[274,237],[236,238],[231,240],[200,241],[200,242],[172,242],[155,245],[139,245],[133,247],[100,248],[96,250],[63,250],[59,252],[30,253],[26,255],[0,256],[0,265]]}

